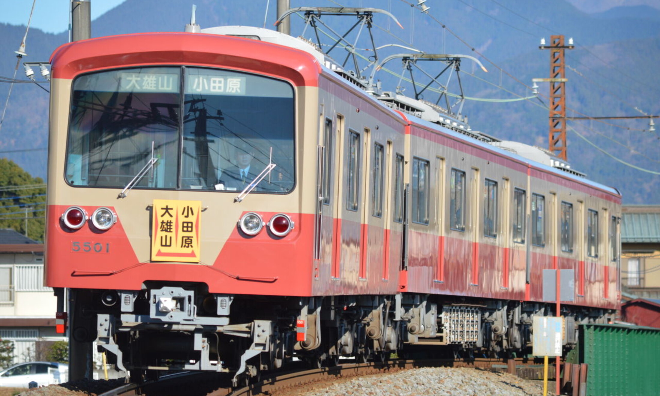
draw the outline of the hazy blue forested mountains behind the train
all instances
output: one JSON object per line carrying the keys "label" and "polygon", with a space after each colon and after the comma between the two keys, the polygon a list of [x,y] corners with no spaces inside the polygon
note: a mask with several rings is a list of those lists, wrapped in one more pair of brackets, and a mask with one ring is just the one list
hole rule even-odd
{"label": "hazy blue forested mountains behind the train", "polygon": [[[322,3],[320,6],[331,6]],[[546,38],[549,42],[550,35],[564,34],[567,40],[574,38],[576,43],[576,48],[566,50],[566,107],[571,109],[568,116],[573,111],[589,116],[641,116],[635,107],[646,114],[660,114],[657,9],[617,7],[605,13],[588,14],[562,0],[506,3],[431,0],[426,3],[431,7],[431,17],[403,1],[342,3],[347,7],[385,7],[397,16],[403,30],[383,15],[374,16],[378,45],[395,42],[428,53],[465,53],[478,57],[489,73],[474,71],[475,77],[463,77],[467,96],[503,101],[516,98],[515,95],[530,96],[531,90],[522,84],[531,86],[532,79],[547,78],[550,69],[550,51],[539,50],[539,40]],[[216,0],[127,0],[92,22],[92,36],[181,32],[189,22],[193,4],[197,5],[197,23],[202,28],[226,24],[263,26],[264,19],[265,26],[271,27],[275,20],[275,1],[269,2],[265,13],[266,1],[238,5]],[[292,7],[304,5],[309,3],[291,0]],[[353,22],[354,19],[346,18],[337,30],[343,32]],[[302,19],[292,16],[292,34],[300,34],[303,27]],[[12,77],[16,66],[13,51],[24,32],[24,26],[0,24],[4,38],[0,42],[0,53],[4,54],[0,57],[0,76]],[[306,36],[310,36],[310,30]],[[29,56],[23,60],[47,61],[49,53],[65,43],[67,37],[67,33],[45,34],[31,28],[26,49]],[[463,71],[472,73],[471,63],[466,61]],[[22,67],[17,78],[25,79]],[[393,77],[383,77],[383,85],[395,82]],[[548,83],[539,85],[540,92],[547,97]],[[42,86],[48,88],[48,84]],[[0,106],[8,90],[9,84],[0,84]],[[547,102],[543,98],[501,103],[468,101],[463,113],[469,116],[473,129],[500,139],[546,147]],[[660,121],[656,121],[660,126]],[[622,164],[660,170],[658,135],[637,130],[648,129],[648,120],[576,120],[568,121],[568,125],[577,132],[568,131],[568,159],[573,168],[597,182],[620,189],[625,203],[660,203],[660,177]],[[35,84],[15,84],[0,129],[0,156],[14,160],[32,176],[46,178],[47,129],[48,94]]]}

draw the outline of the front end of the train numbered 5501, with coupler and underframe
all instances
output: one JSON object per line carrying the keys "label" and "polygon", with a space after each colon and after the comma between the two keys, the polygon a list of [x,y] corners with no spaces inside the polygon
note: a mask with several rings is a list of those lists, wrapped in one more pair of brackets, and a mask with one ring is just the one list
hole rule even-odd
{"label": "front end of the train numbered 5501, with coupler and underframe", "polygon": [[46,282],[74,302],[73,342],[133,376],[278,366],[300,314],[284,296],[311,290],[317,59],[165,33],[51,65]]}

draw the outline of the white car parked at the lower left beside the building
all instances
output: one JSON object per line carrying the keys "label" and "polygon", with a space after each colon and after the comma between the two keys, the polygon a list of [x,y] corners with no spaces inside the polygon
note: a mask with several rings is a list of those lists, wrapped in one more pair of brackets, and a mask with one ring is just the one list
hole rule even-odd
{"label": "white car parked at the lower left beside the building", "polygon": [[55,362],[26,362],[15,364],[0,371],[0,386],[30,387],[35,381],[37,386],[63,383],[69,378],[69,365]]}

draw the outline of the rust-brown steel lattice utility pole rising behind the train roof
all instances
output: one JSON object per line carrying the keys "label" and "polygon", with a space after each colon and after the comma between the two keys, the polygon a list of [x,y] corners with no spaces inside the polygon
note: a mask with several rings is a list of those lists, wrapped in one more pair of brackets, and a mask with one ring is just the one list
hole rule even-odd
{"label": "rust-brown steel lattice utility pole rising behind the train roof", "polygon": [[562,160],[566,155],[566,63],[564,49],[573,49],[573,39],[564,46],[564,36],[550,36],[550,46],[541,39],[539,49],[550,49],[550,78],[533,79],[533,81],[550,82],[550,131],[548,131],[548,150],[557,154]]}

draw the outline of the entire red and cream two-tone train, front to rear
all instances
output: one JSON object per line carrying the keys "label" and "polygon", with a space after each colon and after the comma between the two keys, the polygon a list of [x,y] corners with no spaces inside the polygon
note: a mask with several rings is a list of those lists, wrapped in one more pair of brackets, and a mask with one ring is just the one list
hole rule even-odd
{"label": "entire red and cream two-tone train, front to rear", "polygon": [[525,350],[544,269],[574,270],[567,347],[618,309],[616,189],[306,42],[129,34],[51,67],[46,283],[71,340],[133,376]]}

